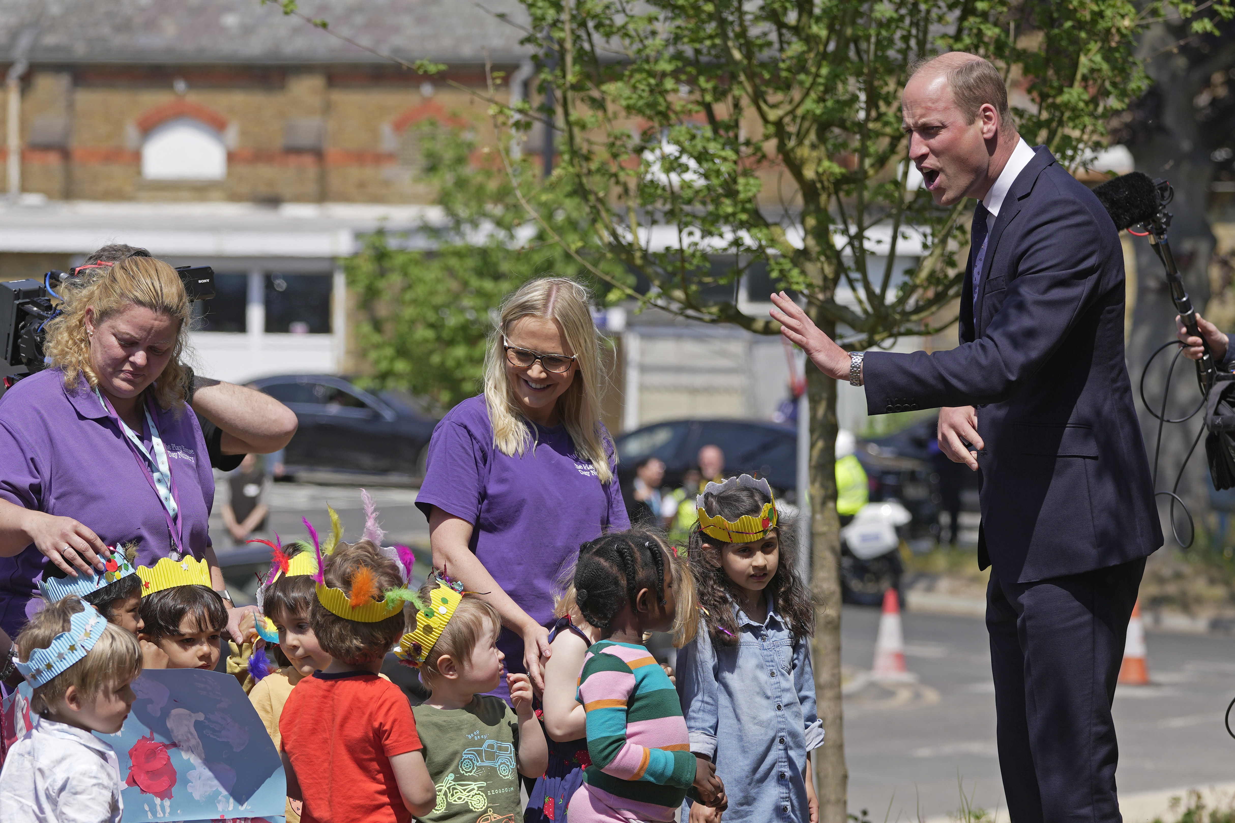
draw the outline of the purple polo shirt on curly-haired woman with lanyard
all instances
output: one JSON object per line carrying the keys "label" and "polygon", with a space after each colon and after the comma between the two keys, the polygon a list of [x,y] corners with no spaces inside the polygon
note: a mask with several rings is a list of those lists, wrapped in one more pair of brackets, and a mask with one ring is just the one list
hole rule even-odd
{"label": "purple polo shirt on curly-haired woman with lanyard", "polygon": [[[215,501],[201,428],[188,408],[156,406],[154,422],[175,480],[185,549],[201,559]],[[144,416],[142,443],[149,448]],[[72,517],[107,545],[136,540],[138,565],[153,565],[172,550],[163,503],[124,434],[85,380],[78,390],[65,390],[59,369],[25,378],[0,397],[0,497]],[[37,611],[46,564],[33,545],[0,558],[0,628],[10,635]]]}

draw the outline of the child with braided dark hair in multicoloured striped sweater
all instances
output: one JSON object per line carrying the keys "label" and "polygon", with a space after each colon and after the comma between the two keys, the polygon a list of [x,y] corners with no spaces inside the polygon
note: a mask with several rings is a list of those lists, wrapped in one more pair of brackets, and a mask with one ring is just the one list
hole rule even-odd
{"label": "child with braided dark hair in multicoloured striped sweater", "polygon": [[[677,560],[651,532],[606,534],[579,548],[576,597],[600,629],[579,675],[592,765],[567,811],[571,823],[672,821],[689,793],[726,806],[715,766],[690,754],[682,705],[643,645],[674,626]],[[689,574],[678,568],[679,576]]]}

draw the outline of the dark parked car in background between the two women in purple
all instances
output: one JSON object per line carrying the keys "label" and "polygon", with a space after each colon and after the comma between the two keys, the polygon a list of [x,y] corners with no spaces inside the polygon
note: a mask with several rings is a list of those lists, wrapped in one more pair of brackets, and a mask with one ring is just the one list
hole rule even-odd
{"label": "dark parked car in background between the two women in purple", "polygon": [[398,391],[371,394],[326,374],[288,374],[252,383],[300,420],[288,444],[288,475],[308,470],[424,476],[437,417]]}

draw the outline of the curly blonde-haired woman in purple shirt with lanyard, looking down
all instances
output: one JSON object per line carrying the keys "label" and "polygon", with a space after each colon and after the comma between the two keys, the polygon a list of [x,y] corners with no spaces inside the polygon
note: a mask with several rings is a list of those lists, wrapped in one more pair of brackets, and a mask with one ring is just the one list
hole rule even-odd
{"label": "curly blonde-haired woman in purple shirt with lanyard, looking down", "polygon": [[207,533],[215,484],[184,407],[189,300],[167,263],[131,257],[62,284],[49,368],[0,397],[0,629],[41,607],[49,563],[103,570],[107,547],[137,563],[193,555],[222,575]]}

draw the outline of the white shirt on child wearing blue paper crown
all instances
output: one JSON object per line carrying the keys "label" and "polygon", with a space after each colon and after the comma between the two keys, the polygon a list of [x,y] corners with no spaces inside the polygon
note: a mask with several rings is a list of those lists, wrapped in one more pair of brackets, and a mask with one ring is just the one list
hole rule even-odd
{"label": "white shirt on child wearing blue paper crown", "polygon": [[0,823],[120,823],[120,761],[90,732],[40,717],[0,771]]}

